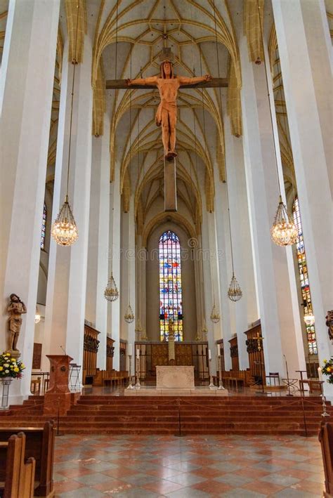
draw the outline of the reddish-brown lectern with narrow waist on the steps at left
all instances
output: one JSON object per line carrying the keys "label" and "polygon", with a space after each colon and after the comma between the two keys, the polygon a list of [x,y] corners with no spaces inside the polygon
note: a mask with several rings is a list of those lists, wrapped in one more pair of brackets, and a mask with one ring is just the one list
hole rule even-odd
{"label": "reddish-brown lectern with narrow waist on the steps at left", "polygon": [[44,415],[65,415],[70,409],[71,392],[68,388],[70,362],[68,355],[46,355],[50,360],[50,384],[44,395]]}

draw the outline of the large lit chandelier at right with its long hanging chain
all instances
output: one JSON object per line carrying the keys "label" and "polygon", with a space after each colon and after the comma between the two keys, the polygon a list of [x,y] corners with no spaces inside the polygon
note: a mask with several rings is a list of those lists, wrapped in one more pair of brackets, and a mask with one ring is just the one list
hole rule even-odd
{"label": "large lit chandelier at right with its long hanging chain", "polygon": [[[257,0],[258,13],[259,13],[259,26],[261,32],[261,44],[263,48],[263,53],[265,53],[263,46],[263,27],[261,24],[261,8],[259,6],[259,1]],[[272,115],[272,107],[270,105],[270,93],[268,86],[268,75],[267,75],[267,67],[266,60],[263,60],[263,65],[265,67],[265,76],[266,76],[266,88],[268,94],[268,106],[270,109],[270,126],[272,129],[273,136],[273,145],[274,145],[274,155],[275,155],[275,166],[278,176],[278,188],[279,188],[279,204],[278,209],[276,210],[275,218],[273,221],[272,228],[270,228],[270,236],[275,244],[278,246],[291,246],[295,244],[297,239],[297,228],[294,224],[292,216],[288,215],[287,207],[285,203],[282,201],[281,195],[281,185],[280,185],[280,177],[278,171],[278,155],[276,151],[275,138],[274,138],[274,128],[273,128],[273,115]],[[281,74],[282,77],[282,74]]]}

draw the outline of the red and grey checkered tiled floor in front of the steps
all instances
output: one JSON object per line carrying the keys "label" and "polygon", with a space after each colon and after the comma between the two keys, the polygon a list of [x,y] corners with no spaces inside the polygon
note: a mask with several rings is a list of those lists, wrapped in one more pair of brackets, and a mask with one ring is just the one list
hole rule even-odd
{"label": "red and grey checkered tiled floor in front of the steps", "polygon": [[318,438],[64,435],[55,497],[322,496]]}

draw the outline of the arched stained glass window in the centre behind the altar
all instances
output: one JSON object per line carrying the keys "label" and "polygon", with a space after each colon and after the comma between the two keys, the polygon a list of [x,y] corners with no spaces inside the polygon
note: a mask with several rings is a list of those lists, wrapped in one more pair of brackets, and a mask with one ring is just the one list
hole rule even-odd
{"label": "arched stained glass window in the centre behind the altar", "polygon": [[159,333],[169,337],[169,319],[174,322],[175,341],[183,341],[183,303],[181,289],[181,244],[168,230],[159,238]]}

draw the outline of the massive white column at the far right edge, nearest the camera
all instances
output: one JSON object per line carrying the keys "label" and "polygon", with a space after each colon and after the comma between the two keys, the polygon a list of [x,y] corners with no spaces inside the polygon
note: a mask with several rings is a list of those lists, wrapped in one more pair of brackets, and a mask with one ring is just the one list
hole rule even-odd
{"label": "massive white column at the far right edge, nearest the camera", "polygon": [[[325,325],[333,302],[332,46],[323,1],[277,0],[273,12],[322,363],[333,353]],[[325,393],[333,398],[333,386],[325,383]]]}

